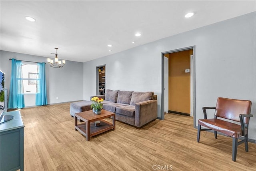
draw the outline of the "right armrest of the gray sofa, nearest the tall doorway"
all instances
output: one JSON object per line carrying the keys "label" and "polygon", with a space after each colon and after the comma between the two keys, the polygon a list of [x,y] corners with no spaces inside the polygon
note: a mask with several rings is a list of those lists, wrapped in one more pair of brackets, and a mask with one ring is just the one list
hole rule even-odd
{"label": "right armrest of the gray sofa, nearest the tall doorway", "polygon": [[135,104],[135,126],[142,127],[157,118],[157,100],[147,100]]}

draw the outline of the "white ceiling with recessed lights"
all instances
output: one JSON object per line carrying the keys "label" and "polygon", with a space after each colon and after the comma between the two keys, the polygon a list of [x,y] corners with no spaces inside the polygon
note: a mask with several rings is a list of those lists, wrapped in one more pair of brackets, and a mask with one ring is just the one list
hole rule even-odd
{"label": "white ceiling with recessed lights", "polygon": [[[60,59],[86,62],[254,12],[256,4],[255,0],[1,0],[0,9],[1,50],[54,58],[50,53],[56,47]],[[188,12],[195,15],[184,18]],[[134,36],[136,32],[141,36]]]}

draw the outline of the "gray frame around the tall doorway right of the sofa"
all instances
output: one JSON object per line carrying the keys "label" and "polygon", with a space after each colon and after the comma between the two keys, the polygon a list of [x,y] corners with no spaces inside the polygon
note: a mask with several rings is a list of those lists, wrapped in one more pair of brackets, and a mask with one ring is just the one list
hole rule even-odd
{"label": "gray frame around the tall doorway right of the sofa", "polygon": [[[196,46],[189,46],[186,48],[180,48],[175,50],[169,50],[166,52],[161,52],[161,117],[160,119],[164,119],[164,54],[170,54],[174,52],[180,52],[184,50],[193,50],[193,58],[191,59],[190,63],[190,115],[194,116],[194,127],[196,125],[196,73],[195,73],[195,48]],[[191,65],[192,64],[192,65]],[[192,81],[192,83],[191,83]]]}

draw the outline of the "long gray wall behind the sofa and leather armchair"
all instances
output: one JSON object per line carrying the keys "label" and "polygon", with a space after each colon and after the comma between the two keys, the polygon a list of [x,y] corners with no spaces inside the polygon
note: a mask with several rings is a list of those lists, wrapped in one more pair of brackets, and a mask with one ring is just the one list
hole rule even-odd
{"label": "long gray wall behind the sofa and leather armchair", "polygon": [[202,106],[215,106],[217,97],[249,99],[254,114],[249,138],[255,140],[255,20],[253,12],[85,62],[84,99],[96,94],[96,66],[106,64],[107,89],[154,91],[160,117],[161,52],[195,46],[196,125]]}

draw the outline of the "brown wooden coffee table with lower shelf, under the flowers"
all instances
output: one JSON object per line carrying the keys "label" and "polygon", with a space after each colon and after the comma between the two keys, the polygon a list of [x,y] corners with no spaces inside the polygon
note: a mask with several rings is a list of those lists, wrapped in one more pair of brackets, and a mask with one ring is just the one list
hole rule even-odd
{"label": "brown wooden coffee table with lower shelf, under the flowers", "polygon": [[[104,118],[111,117],[113,122],[107,122],[103,120]],[[86,140],[89,141],[90,137],[94,135],[98,135],[100,133],[106,132],[110,129],[116,129],[116,113],[106,111],[102,109],[99,115],[96,115],[92,112],[92,110],[83,111],[80,113],[75,113],[75,130],[80,131],[84,136],[86,136]],[[84,123],[77,124],[77,120],[80,119],[84,121]],[[100,126],[95,126],[94,122],[100,121]]]}

